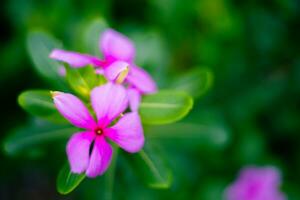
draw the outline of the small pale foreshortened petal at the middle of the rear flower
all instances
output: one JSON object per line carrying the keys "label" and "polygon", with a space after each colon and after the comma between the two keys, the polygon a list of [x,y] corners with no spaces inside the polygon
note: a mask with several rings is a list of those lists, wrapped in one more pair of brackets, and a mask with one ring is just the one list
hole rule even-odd
{"label": "small pale foreshortened petal at the middle of the rear flower", "polygon": [[124,61],[116,61],[113,62],[111,65],[109,65],[105,71],[105,77],[111,81],[114,81],[118,78],[119,74],[125,70],[127,70],[129,67],[129,64]]}

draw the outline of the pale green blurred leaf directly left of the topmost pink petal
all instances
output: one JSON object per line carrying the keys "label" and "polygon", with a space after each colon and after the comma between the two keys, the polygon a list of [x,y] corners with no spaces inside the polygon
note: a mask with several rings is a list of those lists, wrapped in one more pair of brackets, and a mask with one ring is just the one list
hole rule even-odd
{"label": "pale green blurred leaf directly left of the topmost pink petal", "polygon": [[108,28],[108,24],[103,18],[93,20],[85,29],[84,44],[85,49],[91,55],[101,56],[99,50],[99,39],[102,32]]}

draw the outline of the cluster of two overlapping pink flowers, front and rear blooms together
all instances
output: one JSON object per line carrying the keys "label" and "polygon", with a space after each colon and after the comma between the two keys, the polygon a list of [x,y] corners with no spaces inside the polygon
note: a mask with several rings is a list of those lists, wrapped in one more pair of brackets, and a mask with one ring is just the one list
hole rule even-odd
{"label": "cluster of two overlapping pink flowers, front and rear blooms together", "polygon": [[[109,81],[91,91],[90,103],[96,119],[76,96],[52,92],[58,111],[71,124],[83,129],[68,141],[67,156],[71,171],[85,172],[88,177],[107,170],[113,152],[107,139],[130,153],[141,150],[144,134],[137,112],[140,98],[156,91],[150,75],[134,64],[135,48],[127,37],[108,29],[100,37],[100,50],[104,59],[58,49],[50,54],[71,67],[93,65]],[[131,112],[124,113],[128,107]]]}

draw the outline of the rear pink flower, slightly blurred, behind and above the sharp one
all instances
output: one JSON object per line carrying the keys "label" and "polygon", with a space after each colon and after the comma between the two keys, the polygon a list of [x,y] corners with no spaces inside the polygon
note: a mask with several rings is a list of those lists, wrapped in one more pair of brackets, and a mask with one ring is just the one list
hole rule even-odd
{"label": "rear pink flower, slightly blurred, behind and above the sharp one", "polygon": [[104,60],[87,54],[58,49],[53,50],[50,57],[66,62],[73,67],[84,67],[90,64],[95,67],[102,67],[106,78],[113,82],[119,78],[122,72],[129,70],[127,77],[123,78],[129,85],[130,107],[136,111],[140,96],[156,92],[156,84],[145,70],[134,64],[134,44],[121,33],[108,29],[101,35],[99,46],[103,52]]}

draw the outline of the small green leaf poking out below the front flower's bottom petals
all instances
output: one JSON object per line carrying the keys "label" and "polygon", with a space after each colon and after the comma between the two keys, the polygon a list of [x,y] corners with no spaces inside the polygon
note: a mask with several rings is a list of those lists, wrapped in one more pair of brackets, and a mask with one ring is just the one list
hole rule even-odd
{"label": "small green leaf poking out below the front flower's bottom petals", "polygon": [[60,194],[68,194],[72,192],[85,178],[85,174],[74,174],[70,171],[69,164],[66,163],[59,171],[56,188]]}

